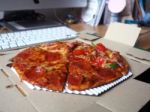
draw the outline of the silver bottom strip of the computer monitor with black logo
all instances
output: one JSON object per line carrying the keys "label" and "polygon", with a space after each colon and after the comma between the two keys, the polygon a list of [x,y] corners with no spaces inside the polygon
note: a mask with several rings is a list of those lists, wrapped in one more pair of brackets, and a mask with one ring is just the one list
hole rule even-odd
{"label": "silver bottom strip of the computer monitor with black logo", "polygon": [[87,0],[0,0],[0,11],[85,7]]}

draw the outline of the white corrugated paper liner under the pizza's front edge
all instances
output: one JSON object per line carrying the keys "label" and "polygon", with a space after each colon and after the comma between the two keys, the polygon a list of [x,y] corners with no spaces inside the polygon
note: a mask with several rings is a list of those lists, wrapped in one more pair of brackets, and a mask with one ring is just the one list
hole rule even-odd
{"label": "white corrugated paper liner under the pizza's front edge", "polygon": [[[11,68],[11,70],[19,77],[18,73],[16,72],[16,70],[13,67]],[[108,84],[105,84],[105,85],[102,85],[102,86],[99,86],[99,87],[95,87],[95,88],[92,88],[92,89],[87,89],[87,90],[84,90],[84,91],[69,90],[67,88],[67,84],[66,84],[66,87],[65,87],[65,89],[62,93],[98,96],[98,95],[104,93],[105,91],[108,91],[109,89],[113,88],[114,86],[118,85],[119,83],[123,82],[124,80],[128,79],[131,76],[132,76],[132,72],[129,71],[129,73],[127,75],[124,75],[124,76],[122,76],[121,78],[119,78],[115,81],[112,81]],[[23,83],[28,88],[30,88],[32,90],[43,90],[43,91],[50,91],[50,92],[53,91],[53,90],[48,90],[47,88],[41,88],[39,86],[32,85],[32,84],[28,83],[27,81],[23,81]],[[55,91],[55,92],[57,92],[57,91]]]}

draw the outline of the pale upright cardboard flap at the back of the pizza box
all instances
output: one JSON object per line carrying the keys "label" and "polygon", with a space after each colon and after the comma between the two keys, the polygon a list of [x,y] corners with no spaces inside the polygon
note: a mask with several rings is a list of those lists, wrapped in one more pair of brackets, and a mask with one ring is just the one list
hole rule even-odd
{"label": "pale upright cardboard flap at the back of the pizza box", "polygon": [[135,25],[111,23],[104,38],[133,47],[140,31]]}

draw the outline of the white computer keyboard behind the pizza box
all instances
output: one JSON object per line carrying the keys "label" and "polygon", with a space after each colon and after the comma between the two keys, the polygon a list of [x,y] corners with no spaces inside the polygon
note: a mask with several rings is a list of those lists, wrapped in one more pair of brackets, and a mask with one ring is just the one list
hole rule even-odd
{"label": "white computer keyboard behind the pizza box", "polygon": [[77,32],[67,26],[10,32],[0,34],[0,51],[8,51],[31,45],[67,40],[77,37]]}

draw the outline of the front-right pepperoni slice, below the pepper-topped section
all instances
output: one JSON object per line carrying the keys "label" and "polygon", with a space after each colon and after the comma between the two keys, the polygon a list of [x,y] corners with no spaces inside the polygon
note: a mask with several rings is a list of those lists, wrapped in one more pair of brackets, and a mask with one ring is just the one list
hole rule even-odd
{"label": "front-right pepperoni slice, below the pepper-topped section", "polygon": [[119,77],[112,69],[97,69],[86,60],[78,59],[69,64],[67,84],[70,90],[81,91],[107,84]]}

